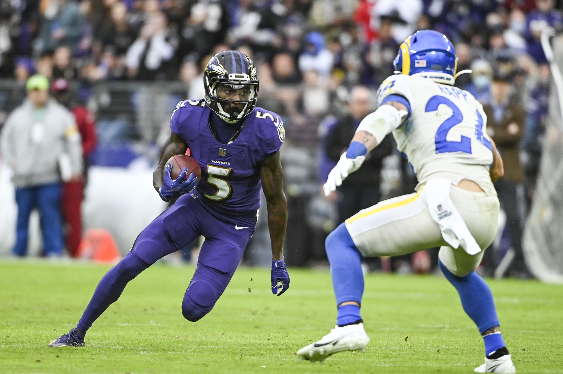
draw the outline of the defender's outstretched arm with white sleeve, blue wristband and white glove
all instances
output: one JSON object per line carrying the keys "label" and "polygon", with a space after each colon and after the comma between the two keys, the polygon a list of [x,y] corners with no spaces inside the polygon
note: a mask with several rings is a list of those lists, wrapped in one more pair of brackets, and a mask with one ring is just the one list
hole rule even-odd
{"label": "defender's outstretched arm with white sleeve, blue wristband and white glove", "polygon": [[409,115],[409,108],[397,101],[388,101],[361,120],[348,150],[330,171],[324,184],[324,195],[329,196],[341,186],[342,181],[358,170],[365,155],[383,141],[385,136],[399,127]]}

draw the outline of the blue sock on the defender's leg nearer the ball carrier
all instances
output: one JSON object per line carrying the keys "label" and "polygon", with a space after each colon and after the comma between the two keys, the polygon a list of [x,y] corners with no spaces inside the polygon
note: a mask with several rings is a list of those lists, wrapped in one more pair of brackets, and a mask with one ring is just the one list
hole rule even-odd
{"label": "blue sock on the defender's leg nearer the ball carrier", "polygon": [[[361,271],[361,254],[352,237],[342,223],[327,237],[325,242],[332,285],[336,296],[336,305],[345,301],[356,301],[361,305],[361,296],[364,293],[364,274]],[[351,321],[350,319],[354,319]],[[360,307],[345,305],[338,308],[338,325],[346,325],[358,321]],[[348,321],[348,322],[342,322]]]}

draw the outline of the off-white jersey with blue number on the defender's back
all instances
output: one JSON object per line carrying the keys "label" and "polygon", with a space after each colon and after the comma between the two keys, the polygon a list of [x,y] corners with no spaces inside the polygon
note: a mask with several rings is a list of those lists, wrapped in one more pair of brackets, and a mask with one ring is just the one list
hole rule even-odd
{"label": "off-white jersey with blue number on the defender's back", "polygon": [[404,96],[410,103],[409,119],[392,133],[419,186],[431,178],[449,179],[453,184],[469,179],[488,195],[496,194],[489,175],[493,151],[486,134],[487,118],[471,93],[428,78],[397,74],[379,86],[378,106],[390,94]]}

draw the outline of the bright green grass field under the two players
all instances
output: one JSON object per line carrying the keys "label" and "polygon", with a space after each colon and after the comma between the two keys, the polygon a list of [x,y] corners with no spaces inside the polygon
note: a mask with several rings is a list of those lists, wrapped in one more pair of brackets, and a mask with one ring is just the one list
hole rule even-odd
{"label": "bright green grass field under the two players", "polygon": [[[154,265],[96,321],[84,348],[47,348],[78,321],[108,267],[0,263],[1,373],[471,373],[484,357],[476,327],[443,278],[369,274],[365,353],[324,364],[295,352],[334,326],[330,274],[289,269],[277,297],[267,269],[240,268],[206,317],[182,317],[193,267]],[[489,280],[520,373],[563,373],[563,286]],[[408,339],[406,338],[408,336]]]}

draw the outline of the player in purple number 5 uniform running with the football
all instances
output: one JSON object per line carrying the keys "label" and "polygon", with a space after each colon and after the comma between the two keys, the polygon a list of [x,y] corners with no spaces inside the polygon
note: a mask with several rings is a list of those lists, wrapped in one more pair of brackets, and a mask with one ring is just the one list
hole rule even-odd
{"label": "player in purple number 5 uniform running with the football", "polygon": [[[171,136],[164,145],[153,184],[163,200],[177,201],[137,237],[131,251],[96,287],[78,325],[49,346],[83,346],[92,323],[122,294],[129,281],[158,259],[203,235],[194,277],[182,300],[182,314],[198,321],[209,313],[229,284],[254,228],[260,190],[267,201],[272,247],[272,292],[289,287],[282,256],[287,202],[279,148],[282,120],[256,106],[256,67],[238,51],[217,53],[204,73],[205,98],[178,103]],[[169,157],[185,154],[202,168],[201,181],[186,169],[173,180]],[[164,169],[164,172],[163,172]]]}

